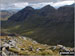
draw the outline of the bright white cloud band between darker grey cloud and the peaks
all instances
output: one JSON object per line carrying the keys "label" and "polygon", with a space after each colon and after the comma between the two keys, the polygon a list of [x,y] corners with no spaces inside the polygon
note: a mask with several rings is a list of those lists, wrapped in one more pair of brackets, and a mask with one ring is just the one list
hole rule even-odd
{"label": "bright white cloud band between darker grey cloud and the peaks", "polygon": [[18,2],[18,3],[12,3],[12,4],[1,4],[1,9],[22,9],[26,6],[31,6],[35,9],[42,8],[46,5],[51,5],[55,8],[59,8],[64,5],[71,5],[74,3],[74,0],[65,0],[65,1],[59,1],[59,2],[40,2],[40,3],[29,3],[29,2]]}

